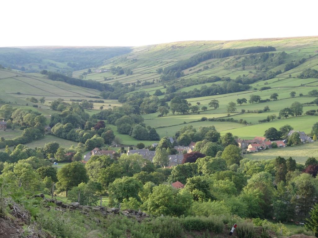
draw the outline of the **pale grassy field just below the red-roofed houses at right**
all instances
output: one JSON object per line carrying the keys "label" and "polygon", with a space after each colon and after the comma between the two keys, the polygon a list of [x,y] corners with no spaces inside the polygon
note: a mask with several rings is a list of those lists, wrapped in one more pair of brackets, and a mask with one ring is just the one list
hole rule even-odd
{"label": "pale grassy field just below the red-roofed houses at right", "polygon": [[305,164],[309,157],[318,158],[318,142],[278,149],[267,149],[260,152],[246,154],[244,155],[244,158],[251,160],[267,160],[274,159],[277,156],[284,157],[285,159],[292,157],[297,163]]}

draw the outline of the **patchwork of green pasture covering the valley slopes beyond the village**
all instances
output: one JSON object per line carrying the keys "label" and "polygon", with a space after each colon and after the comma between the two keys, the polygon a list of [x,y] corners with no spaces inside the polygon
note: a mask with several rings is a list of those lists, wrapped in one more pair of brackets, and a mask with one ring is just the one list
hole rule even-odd
{"label": "patchwork of green pasture covering the valley slopes beyond the village", "polygon": [[[187,60],[191,56],[210,50],[239,49],[255,46],[272,46],[275,47],[276,51],[208,59],[197,63],[195,66],[183,69],[183,74],[179,77],[163,80],[162,76],[164,76],[164,73],[162,71],[180,60]],[[294,129],[310,133],[312,125],[318,122],[318,117],[316,116],[290,116],[287,119],[278,119],[277,117],[281,109],[289,107],[293,102],[303,104],[303,113],[308,110],[318,109],[315,104],[307,104],[315,99],[308,92],[314,89],[318,90],[318,78],[298,78],[305,69],[318,69],[318,54],[315,52],[317,50],[318,37],[176,42],[134,47],[131,52],[107,59],[103,65],[92,68],[92,73],[88,73],[88,69],[73,71],[73,77],[110,84],[119,82],[122,83],[122,86],[128,87],[134,86],[135,90],[128,92],[128,94],[144,91],[148,92],[149,95],[153,95],[159,89],[164,93],[158,96],[159,99],[169,95],[166,91],[169,86],[175,86],[176,91],[174,93],[176,95],[183,96],[191,105],[199,103],[199,114],[190,112],[184,115],[173,115],[171,111],[162,117],[158,117],[159,113],[143,114],[146,126],[156,128],[161,137],[174,136],[177,130],[184,125],[190,124],[195,128],[215,125],[221,134],[231,132],[233,135],[246,139],[254,136],[263,136],[264,131],[269,127],[278,129],[285,124],[290,124]],[[57,60],[57,58],[53,60]],[[293,64],[293,66],[288,68],[290,64]],[[117,75],[114,72],[113,74],[112,70],[117,67],[122,67],[125,70],[130,69],[132,73]],[[85,74],[83,75],[83,73]],[[214,76],[217,80],[213,79]],[[214,81],[211,81],[211,79]],[[41,109],[47,110],[45,115],[49,115],[52,112],[48,109],[49,103],[57,98],[63,98],[66,102],[70,102],[71,99],[89,100],[90,96],[100,96],[100,91],[98,90],[51,81],[46,76],[37,73],[25,74],[2,69],[0,70],[0,82],[2,85],[0,98],[7,99],[7,101],[13,103],[25,105],[28,102],[26,101],[27,97],[40,98],[44,96],[46,102],[41,105]],[[243,85],[248,89],[235,91],[236,89],[234,88],[231,89],[232,92],[216,93],[210,96],[202,93],[202,90],[206,88],[223,87],[222,85],[225,85],[225,83],[232,82],[239,83],[237,85]],[[263,87],[267,88],[261,90]],[[294,97],[290,95],[292,91],[295,92]],[[200,92],[200,94],[197,94],[197,92]],[[277,100],[270,99],[273,93],[278,94]],[[229,102],[236,102],[239,98],[249,100],[251,95],[257,95],[262,100],[269,101],[236,104],[235,112],[228,114],[226,107]],[[219,101],[218,109],[209,107],[208,103],[213,99]],[[116,99],[106,98],[103,100],[104,103],[94,103],[94,109],[87,110],[87,112],[93,115],[98,112],[97,109],[100,106],[107,109],[121,105]],[[170,105],[169,100],[167,103]],[[207,110],[202,110],[203,106],[206,106]],[[257,113],[257,111],[264,109],[266,106],[269,107],[268,111]],[[245,113],[242,113],[242,110]],[[250,113],[247,113],[248,111]],[[259,122],[270,115],[275,115],[276,118],[270,122]],[[219,118],[228,120],[233,118],[234,120],[246,120],[247,125],[237,122],[209,120],[201,122],[202,117],[207,119]],[[138,143],[137,140],[132,139],[128,135],[117,133],[116,126],[112,125],[112,128],[115,134],[122,139],[123,144]],[[148,143],[151,144],[152,142],[149,141]]]}

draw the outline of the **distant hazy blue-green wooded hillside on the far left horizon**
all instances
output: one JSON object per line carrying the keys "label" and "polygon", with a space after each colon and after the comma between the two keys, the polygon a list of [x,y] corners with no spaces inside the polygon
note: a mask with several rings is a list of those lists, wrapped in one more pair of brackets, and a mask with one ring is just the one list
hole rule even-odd
{"label": "distant hazy blue-green wooded hillside on the far left horizon", "polygon": [[66,73],[97,67],[109,58],[130,51],[130,47],[0,48],[0,64],[24,72],[48,69]]}

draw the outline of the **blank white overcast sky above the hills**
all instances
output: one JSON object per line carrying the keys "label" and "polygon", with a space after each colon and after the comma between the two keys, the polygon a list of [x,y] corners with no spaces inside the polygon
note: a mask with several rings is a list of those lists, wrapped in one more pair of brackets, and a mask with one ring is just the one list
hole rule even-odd
{"label": "blank white overcast sky above the hills", "polygon": [[317,13],[317,0],[2,1],[0,47],[316,36]]}

